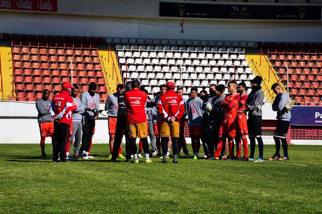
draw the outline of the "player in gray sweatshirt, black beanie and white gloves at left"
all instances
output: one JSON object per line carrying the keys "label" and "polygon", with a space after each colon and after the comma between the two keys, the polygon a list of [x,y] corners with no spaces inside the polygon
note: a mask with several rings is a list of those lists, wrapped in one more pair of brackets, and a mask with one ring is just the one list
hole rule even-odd
{"label": "player in gray sweatshirt, black beanie and white gloves at left", "polygon": [[99,95],[95,93],[96,83],[91,82],[89,90],[81,93],[81,103],[85,107],[82,113],[83,134],[81,139],[83,159],[94,158],[89,155],[90,141],[95,127],[95,119],[99,116]]}

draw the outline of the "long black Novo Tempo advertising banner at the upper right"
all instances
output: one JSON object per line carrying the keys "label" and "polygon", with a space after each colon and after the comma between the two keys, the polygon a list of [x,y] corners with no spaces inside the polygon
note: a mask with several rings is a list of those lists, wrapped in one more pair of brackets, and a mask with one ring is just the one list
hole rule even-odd
{"label": "long black Novo Tempo advertising banner at the upper right", "polygon": [[321,20],[321,6],[177,4],[160,2],[160,16],[207,19]]}

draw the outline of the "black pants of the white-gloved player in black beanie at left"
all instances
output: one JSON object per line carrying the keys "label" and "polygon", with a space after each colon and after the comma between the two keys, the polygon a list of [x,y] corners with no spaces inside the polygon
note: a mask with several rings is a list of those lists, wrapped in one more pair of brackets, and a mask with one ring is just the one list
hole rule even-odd
{"label": "black pants of the white-gloved player in black beanie at left", "polygon": [[93,130],[95,127],[95,120],[93,118],[82,117],[82,131],[83,134],[81,136],[81,147],[85,151],[90,150],[90,140],[93,135]]}

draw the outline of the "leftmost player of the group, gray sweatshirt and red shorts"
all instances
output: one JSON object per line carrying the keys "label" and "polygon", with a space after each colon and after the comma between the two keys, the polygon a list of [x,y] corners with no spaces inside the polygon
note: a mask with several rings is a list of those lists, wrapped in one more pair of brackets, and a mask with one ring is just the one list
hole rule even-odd
{"label": "leftmost player of the group, gray sweatshirt and red shorts", "polygon": [[43,90],[43,97],[36,101],[36,109],[38,111],[38,124],[40,130],[40,148],[42,151],[42,157],[46,157],[45,154],[45,139],[46,137],[52,138],[52,143],[55,141],[54,137],[54,124],[52,116],[49,113],[49,107],[51,100],[49,98],[49,90]]}

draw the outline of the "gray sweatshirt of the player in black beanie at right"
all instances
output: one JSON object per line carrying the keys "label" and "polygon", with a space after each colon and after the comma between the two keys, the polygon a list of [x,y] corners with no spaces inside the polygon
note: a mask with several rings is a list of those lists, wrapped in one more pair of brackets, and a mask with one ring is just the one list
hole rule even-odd
{"label": "gray sweatshirt of the player in black beanie at right", "polygon": [[[264,92],[263,90],[251,91],[249,93],[248,98],[246,100],[246,105],[251,106],[248,116],[263,116],[261,107],[263,106],[264,100]],[[260,108],[258,107],[260,106]]]}

